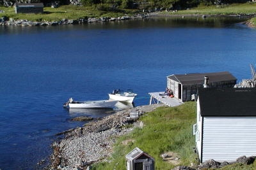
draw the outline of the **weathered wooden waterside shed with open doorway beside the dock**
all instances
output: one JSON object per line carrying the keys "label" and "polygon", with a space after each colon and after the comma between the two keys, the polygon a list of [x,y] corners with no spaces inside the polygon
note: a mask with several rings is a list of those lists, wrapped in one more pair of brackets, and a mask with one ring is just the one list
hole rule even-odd
{"label": "weathered wooden waterside shed with open doorway beside the dock", "polygon": [[204,84],[205,76],[209,78],[209,87],[234,87],[236,77],[228,71],[217,73],[172,74],[167,76],[167,87],[174,97],[182,102],[191,101],[191,96]]}

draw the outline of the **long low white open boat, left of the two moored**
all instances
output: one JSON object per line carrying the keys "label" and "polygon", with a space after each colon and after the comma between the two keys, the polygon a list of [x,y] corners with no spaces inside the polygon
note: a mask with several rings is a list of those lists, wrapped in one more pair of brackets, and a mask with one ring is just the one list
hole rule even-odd
{"label": "long low white open boat, left of the two moored", "polygon": [[70,98],[63,106],[67,108],[115,108],[117,102],[113,100],[74,101]]}

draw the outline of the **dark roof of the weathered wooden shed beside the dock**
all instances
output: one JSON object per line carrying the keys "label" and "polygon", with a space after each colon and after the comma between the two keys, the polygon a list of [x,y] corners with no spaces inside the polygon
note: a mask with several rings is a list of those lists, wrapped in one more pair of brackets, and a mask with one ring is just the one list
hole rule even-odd
{"label": "dark roof of the weathered wooden shed beside the dock", "polygon": [[170,76],[167,76],[167,78],[177,81],[182,85],[201,85],[204,84],[205,76],[208,76],[209,83],[237,80],[236,77],[234,77],[228,71],[217,73],[172,74]]}

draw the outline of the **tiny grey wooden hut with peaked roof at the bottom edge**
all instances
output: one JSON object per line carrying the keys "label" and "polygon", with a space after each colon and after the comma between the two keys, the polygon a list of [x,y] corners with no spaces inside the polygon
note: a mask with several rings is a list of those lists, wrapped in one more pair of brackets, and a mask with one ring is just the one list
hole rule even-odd
{"label": "tiny grey wooden hut with peaked roof at the bottom edge", "polygon": [[140,150],[140,148],[134,148],[126,156],[127,170],[154,170],[155,160],[147,153]]}

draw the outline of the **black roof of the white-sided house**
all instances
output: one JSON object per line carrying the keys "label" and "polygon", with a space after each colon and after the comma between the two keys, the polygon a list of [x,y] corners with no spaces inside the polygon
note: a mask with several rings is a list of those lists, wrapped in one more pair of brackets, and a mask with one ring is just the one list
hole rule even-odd
{"label": "black roof of the white-sided house", "polygon": [[204,117],[256,116],[256,89],[198,89],[200,114]]}

